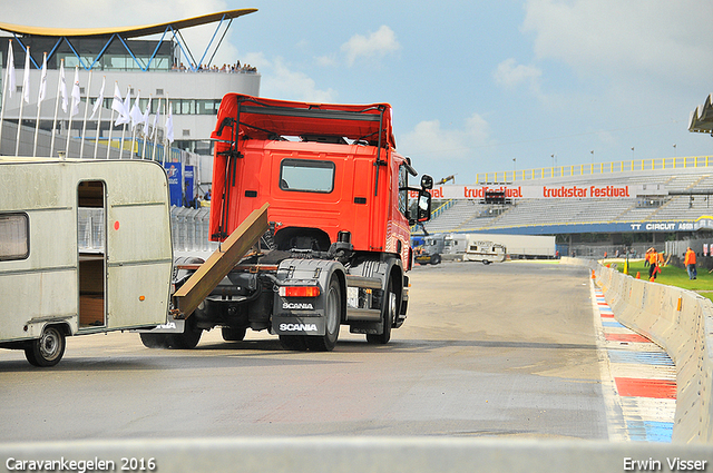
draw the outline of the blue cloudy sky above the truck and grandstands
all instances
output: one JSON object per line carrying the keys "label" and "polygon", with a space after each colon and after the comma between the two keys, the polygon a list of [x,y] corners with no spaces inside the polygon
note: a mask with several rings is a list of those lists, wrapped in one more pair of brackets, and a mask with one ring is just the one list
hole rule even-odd
{"label": "blue cloudy sky above the truck and grandstands", "polygon": [[[711,0],[0,0],[0,21],[164,22],[237,8],[216,62],[256,66],[270,98],[394,109],[420,173],[713,155],[687,131],[713,92]],[[194,49],[214,26],[185,30]],[[553,157],[554,155],[554,157]]]}

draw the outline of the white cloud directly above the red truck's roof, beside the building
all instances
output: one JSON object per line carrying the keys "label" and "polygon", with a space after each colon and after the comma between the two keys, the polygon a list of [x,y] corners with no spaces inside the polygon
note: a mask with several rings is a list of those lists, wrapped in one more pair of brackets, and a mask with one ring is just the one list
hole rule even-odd
{"label": "white cloud directly above the red truck's roof, beside the building", "polygon": [[245,56],[245,62],[257,67],[262,73],[262,97],[318,104],[333,102],[336,99],[334,89],[318,89],[314,79],[304,72],[291,70],[282,58],[271,61],[262,52],[253,52]]}

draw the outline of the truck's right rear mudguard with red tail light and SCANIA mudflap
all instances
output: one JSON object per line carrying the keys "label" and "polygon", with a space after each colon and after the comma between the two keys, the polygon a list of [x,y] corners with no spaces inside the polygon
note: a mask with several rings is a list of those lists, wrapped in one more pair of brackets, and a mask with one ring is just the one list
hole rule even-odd
{"label": "truck's right rear mudguard with red tail light and SCANIA mudflap", "polygon": [[344,319],[346,290],[344,267],[325,259],[284,259],[276,274],[272,329],[277,335],[326,334],[328,290],[336,280],[340,292],[339,323]]}

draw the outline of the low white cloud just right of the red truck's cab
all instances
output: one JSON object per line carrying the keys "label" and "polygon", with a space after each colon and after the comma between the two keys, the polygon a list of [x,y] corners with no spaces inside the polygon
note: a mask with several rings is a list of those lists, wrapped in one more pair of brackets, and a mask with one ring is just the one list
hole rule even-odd
{"label": "low white cloud just right of the red truck's cab", "polygon": [[412,131],[399,137],[399,149],[406,155],[429,159],[465,159],[472,149],[486,145],[490,126],[478,114],[471,115],[461,129],[445,129],[439,120],[421,121]]}

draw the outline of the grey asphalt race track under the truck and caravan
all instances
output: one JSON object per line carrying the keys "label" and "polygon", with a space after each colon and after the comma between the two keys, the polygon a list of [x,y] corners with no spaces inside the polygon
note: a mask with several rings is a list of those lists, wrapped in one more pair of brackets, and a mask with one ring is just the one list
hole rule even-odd
{"label": "grey asphalt race track under the truck and caravan", "polygon": [[[136,334],[68,339],[55,368],[0,351],[0,442],[233,436],[607,440],[589,270],[417,267],[384,346],[342,328],[331,353],[213,331],[194,351]],[[616,415],[616,413],[614,413]]]}

